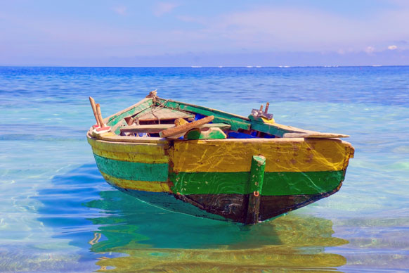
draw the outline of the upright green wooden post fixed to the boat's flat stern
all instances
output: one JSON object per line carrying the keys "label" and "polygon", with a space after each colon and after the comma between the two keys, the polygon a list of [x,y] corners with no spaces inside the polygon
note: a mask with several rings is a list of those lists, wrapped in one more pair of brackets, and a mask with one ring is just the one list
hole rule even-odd
{"label": "upright green wooden post fixed to the boat's flat stern", "polygon": [[249,204],[245,224],[259,222],[261,190],[263,189],[266,158],[263,155],[253,155],[249,177]]}

